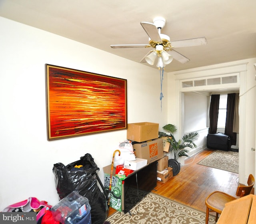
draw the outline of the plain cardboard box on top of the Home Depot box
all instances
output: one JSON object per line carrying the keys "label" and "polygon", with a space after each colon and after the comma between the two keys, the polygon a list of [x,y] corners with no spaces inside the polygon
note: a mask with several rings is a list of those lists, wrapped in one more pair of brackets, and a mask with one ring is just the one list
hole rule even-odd
{"label": "plain cardboard box on top of the Home Depot box", "polygon": [[127,139],[144,142],[158,138],[158,123],[141,122],[127,125]]}

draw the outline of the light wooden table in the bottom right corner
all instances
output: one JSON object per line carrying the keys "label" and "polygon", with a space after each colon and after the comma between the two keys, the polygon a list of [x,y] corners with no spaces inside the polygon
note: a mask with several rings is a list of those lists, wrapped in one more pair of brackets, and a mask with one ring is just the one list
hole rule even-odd
{"label": "light wooden table in the bottom right corner", "polygon": [[255,224],[256,195],[249,194],[228,202],[217,224]]}

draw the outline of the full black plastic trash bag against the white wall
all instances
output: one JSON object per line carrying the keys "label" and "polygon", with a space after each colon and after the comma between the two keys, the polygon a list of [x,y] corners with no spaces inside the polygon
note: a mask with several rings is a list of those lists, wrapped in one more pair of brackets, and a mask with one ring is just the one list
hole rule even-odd
{"label": "full black plastic trash bag against the white wall", "polygon": [[[79,167],[79,165],[82,165],[82,167]],[[60,199],[74,190],[88,198],[91,206],[92,224],[103,224],[108,216],[106,195],[100,191],[97,185],[97,172],[99,170],[89,153],[81,157],[80,160],[66,166],[62,163],[56,163],[52,169]]]}

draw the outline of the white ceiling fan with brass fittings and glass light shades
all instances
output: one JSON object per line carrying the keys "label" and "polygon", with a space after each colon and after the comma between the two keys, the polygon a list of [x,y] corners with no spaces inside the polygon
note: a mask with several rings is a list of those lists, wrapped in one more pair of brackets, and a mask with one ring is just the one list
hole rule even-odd
{"label": "white ceiling fan with brass fittings and glass light shades", "polygon": [[[154,65],[156,58],[158,58],[156,66],[164,67],[169,64],[172,59],[176,59],[180,63],[190,61],[187,57],[176,52],[173,48],[190,47],[206,45],[207,40],[205,37],[193,38],[187,40],[170,41],[170,37],[161,34],[161,29],[165,26],[166,20],[162,17],[157,17],[150,22],[140,22],[144,30],[149,36],[149,44],[124,44],[124,45],[110,45],[111,48],[155,48],[146,54],[140,62],[147,62]],[[170,53],[169,53],[170,52]]]}

